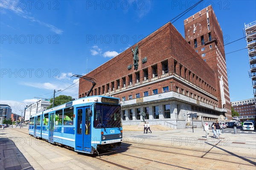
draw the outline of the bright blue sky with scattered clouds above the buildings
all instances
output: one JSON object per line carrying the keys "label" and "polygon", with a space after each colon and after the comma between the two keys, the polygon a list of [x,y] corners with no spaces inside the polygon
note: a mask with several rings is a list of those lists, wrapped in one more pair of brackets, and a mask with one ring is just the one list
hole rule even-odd
{"label": "bright blue sky with scattered clouds above the buildings", "polygon": [[[151,34],[197,1],[6,1],[0,0],[0,102],[20,113],[35,96],[50,98]],[[224,43],[244,37],[244,23],[256,20],[256,1],[203,1],[174,26],[212,5]],[[225,52],[246,47],[245,40]],[[230,99],[253,97],[247,50],[226,55]],[[46,94],[46,95],[43,95]],[[78,98],[77,83],[60,94]]]}

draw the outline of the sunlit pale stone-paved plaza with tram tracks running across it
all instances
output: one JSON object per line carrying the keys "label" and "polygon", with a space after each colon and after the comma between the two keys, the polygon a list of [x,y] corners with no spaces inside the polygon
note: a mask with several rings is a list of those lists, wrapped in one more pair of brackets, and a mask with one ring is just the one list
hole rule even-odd
{"label": "sunlit pale stone-paved plaza with tram tracks running across it", "polygon": [[191,129],[147,134],[127,130],[121,148],[102,151],[101,156],[76,153],[35,139],[26,128],[0,130],[0,136],[12,140],[35,170],[256,169],[255,134],[224,133],[221,139],[207,139],[201,128],[194,133]]}

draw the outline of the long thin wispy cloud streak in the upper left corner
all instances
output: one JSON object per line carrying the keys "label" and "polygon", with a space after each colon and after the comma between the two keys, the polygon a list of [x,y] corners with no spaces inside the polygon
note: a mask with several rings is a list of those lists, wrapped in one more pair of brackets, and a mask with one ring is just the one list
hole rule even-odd
{"label": "long thin wispy cloud streak in the upper left corner", "polygon": [[[19,1],[17,1],[17,0],[9,1],[7,3],[0,3],[0,8],[13,11],[15,14],[19,15],[20,17],[23,17],[27,20],[30,20],[31,22],[39,23],[42,26],[48,27],[48,28],[50,28],[50,30],[52,32],[55,32],[56,34],[62,34],[63,33],[63,31],[61,29],[59,29],[59,28],[57,28],[57,27],[55,27],[51,24],[44,23],[44,22],[36,19],[35,17],[32,17],[29,12],[27,12],[26,10],[21,9],[20,6],[18,6],[18,4],[19,4]],[[2,11],[3,10],[1,10],[1,12]],[[5,14],[5,13],[6,12],[3,12],[3,14]]]}

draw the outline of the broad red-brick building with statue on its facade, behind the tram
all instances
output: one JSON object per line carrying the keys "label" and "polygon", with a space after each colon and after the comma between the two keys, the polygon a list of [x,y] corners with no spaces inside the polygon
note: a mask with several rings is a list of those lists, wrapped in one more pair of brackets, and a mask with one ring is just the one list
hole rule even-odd
{"label": "broad red-brick building with statue on its facade, behind the tram", "polygon": [[[86,76],[97,83],[90,95],[121,99],[123,125],[139,125],[142,112],[151,124],[169,123],[174,128],[184,128],[191,121],[187,113],[197,113],[194,125],[198,126],[203,121],[224,121],[227,113],[218,71],[198,56],[171,23]],[[87,96],[90,87],[90,82],[80,79],[79,98]]]}

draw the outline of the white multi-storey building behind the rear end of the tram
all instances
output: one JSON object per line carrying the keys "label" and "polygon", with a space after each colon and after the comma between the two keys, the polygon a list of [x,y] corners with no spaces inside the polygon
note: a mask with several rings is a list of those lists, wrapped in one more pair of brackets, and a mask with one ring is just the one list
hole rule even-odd
{"label": "white multi-storey building behind the rear end of the tram", "polygon": [[38,102],[32,103],[27,106],[25,110],[25,119],[24,121],[29,121],[29,116],[32,116],[38,112],[44,111],[50,105],[50,102],[47,100],[38,100]]}

